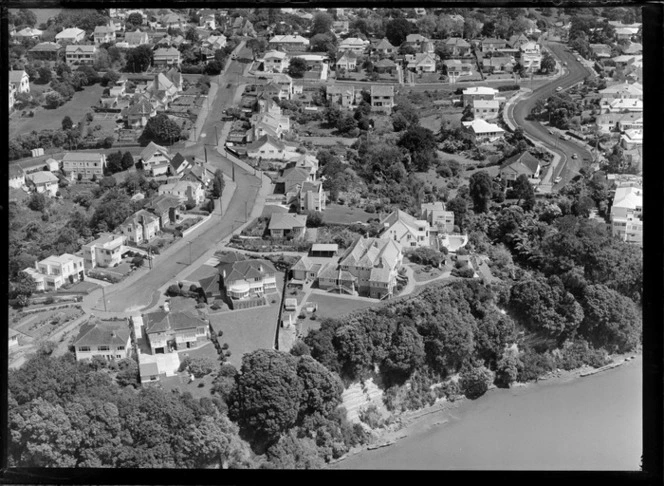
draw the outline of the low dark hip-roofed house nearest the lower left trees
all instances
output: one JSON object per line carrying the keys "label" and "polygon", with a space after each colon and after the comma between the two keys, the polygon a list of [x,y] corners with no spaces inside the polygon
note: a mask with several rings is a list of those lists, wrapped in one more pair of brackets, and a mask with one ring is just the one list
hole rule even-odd
{"label": "low dark hip-roofed house nearest the lower left trees", "polygon": [[102,321],[92,317],[83,324],[74,341],[76,361],[101,357],[107,360],[128,358],[131,333],[126,320]]}

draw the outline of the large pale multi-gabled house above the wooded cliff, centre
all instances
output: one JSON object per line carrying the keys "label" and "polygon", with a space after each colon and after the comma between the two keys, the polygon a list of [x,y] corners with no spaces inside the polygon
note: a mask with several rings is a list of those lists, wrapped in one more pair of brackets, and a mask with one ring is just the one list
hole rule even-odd
{"label": "large pale multi-gabled house above the wooded cliff, centre", "polygon": [[387,238],[358,238],[339,259],[320,272],[318,285],[327,291],[389,298],[403,261],[401,245]]}

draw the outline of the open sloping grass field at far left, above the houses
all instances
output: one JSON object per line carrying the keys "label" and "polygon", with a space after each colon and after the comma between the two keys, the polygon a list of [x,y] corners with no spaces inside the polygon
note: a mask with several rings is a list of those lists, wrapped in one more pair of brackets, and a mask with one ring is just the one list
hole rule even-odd
{"label": "open sloping grass field at far left, above the houses", "polygon": [[65,116],[69,116],[76,124],[85,117],[86,113],[92,112],[91,106],[97,104],[103,91],[104,87],[101,84],[87,86],[82,91],[74,93],[71,100],[55,110],[36,108],[35,116],[32,118],[12,119],[9,124],[9,136],[30,133],[33,130],[62,128],[62,119]]}

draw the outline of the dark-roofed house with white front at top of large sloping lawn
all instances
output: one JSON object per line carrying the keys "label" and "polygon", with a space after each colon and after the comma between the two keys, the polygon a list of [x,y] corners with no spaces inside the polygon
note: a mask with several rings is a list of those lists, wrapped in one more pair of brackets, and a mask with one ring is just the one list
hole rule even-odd
{"label": "dark-roofed house with white front at top of large sloping lawn", "polygon": [[265,294],[277,290],[277,270],[269,260],[236,260],[219,265],[221,285],[232,309],[267,304]]}

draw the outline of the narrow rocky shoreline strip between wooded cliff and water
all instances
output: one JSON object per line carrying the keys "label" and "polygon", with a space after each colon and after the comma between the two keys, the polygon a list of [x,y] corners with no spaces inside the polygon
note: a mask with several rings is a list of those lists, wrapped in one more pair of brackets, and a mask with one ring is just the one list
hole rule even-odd
{"label": "narrow rocky shoreline strip between wooded cliff and water", "polygon": [[[603,371],[608,371],[611,369],[618,368],[625,363],[629,363],[642,357],[642,350],[634,351],[631,353],[624,354],[614,354],[610,355],[609,358],[612,360],[611,363],[605,365],[601,368],[593,368],[591,366],[585,365],[580,368],[575,368],[573,370],[556,370],[549,372],[547,375],[544,375],[542,378],[539,378],[536,381],[529,381],[526,383],[514,383],[510,386],[509,389],[519,390],[524,388],[535,388],[545,387],[551,385],[562,385],[567,384],[572,381],[576,381],[579,378],[584,378],[587,376],[593,376]],[[489,390],[497,388],[495,385],[491,385]],[[487,391],[487,393],[488,393]],[[435,404],[429,405],[427,407],[421,408],[419,410],[409,410],[402,412],[396,415],[397,422],[388,426],[387,428],[372,429],[371,432],[374,434],[375,439],[369,444],[353,447],[346,454],[341,456],[338,459],[335,459],[327,463],[322,469],[333,469],[343,465],[344,460],[351,458],[359,453],[380,449],[383,447],[389,447],[396,444],[399,440],[409,437],[411,435],[416,435],[427,430],[431,430],[434,427],[445,425],[449,422],[449,415],[437,415],[437,414],[448,414],[454,409],[460,408],[469,400],[461,396],[460,398],[450,402],[446,399],[439,399]],[[472,401],[471,401],[472,402]],[[341,467],[342,468],[342,467]]]}

